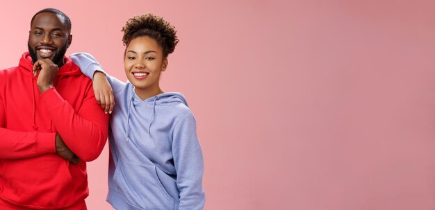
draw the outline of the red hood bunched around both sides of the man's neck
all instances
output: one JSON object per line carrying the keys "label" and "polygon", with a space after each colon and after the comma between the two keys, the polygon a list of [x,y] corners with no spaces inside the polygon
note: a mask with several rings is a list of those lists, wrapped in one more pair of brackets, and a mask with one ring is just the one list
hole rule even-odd
{"label": "red hood bunched around both sides of the man's neck", "polygon": [[[81,75],[81,71],[79,67],[74,68],[76,64],[72,62],[71,59],[63,56],[63,60],[65,60],[65,64],[63,67],[59,68],[59,71],[56,76],[72,76],[72,75]],[[33,70],[33,61],[30,56],[30,53],[26,52],[22,55],[19,60],[19,66],[27,71]]]}

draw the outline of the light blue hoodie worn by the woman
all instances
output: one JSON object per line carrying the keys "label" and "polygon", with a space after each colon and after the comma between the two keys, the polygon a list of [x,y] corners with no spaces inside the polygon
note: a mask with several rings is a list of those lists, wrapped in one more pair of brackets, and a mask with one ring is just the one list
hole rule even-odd
{"label": "light blue hoodie worn by the woman", "polygon": [[[88,53],[69,58],[89,78],[104,73]],[[107,201],[122,210],[202,209],[204,161],[186,98],[164,93],[141,100],[130,82],[107,79],[115,96]]]}

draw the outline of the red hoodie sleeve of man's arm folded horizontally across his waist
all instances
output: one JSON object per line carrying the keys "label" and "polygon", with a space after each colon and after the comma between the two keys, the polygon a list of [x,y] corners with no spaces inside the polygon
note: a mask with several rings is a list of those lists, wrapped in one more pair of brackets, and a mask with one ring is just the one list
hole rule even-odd
{"label": "red hoodie sleeve of man's arm folded horizontally across his waist", "polygon": [[6,129],[6,113],[0,96],[0,158],[20,159],[55,153],[55,133],[19,132]]}

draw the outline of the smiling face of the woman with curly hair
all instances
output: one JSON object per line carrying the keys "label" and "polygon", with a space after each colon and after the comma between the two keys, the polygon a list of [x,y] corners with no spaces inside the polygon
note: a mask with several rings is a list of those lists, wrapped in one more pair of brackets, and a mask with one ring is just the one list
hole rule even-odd
{"label": "smiling face of the woman with curly hair", "polygon": [[158,80],[166,67],[167,59],[163,58],[163,49],[153,38],[136,37],[127,46],[124,68],[136,91],[160,91]]}

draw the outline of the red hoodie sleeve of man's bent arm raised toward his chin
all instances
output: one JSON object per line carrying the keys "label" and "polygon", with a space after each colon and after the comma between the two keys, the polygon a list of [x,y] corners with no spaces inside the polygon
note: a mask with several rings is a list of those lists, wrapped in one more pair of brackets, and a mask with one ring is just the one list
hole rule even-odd
{"label": "red hoodie sleeve of man's bent arm raised toward his chin", "polygon": [[54,87],[41,94],[40,101],[68,148],[83,161],[97,159],[108,137],[108,115],[97,104],[92,85],[85,89],[77,112]]}

